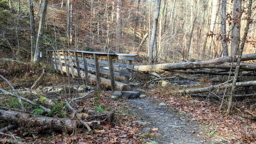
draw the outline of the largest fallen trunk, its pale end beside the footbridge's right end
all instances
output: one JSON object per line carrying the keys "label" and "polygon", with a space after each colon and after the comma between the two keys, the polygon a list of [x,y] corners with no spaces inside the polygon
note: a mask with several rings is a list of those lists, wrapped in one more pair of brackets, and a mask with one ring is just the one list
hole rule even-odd
{"label": "largest fallen trunk, its pale end beside the footbridge's right end", "polygon": [[[164,72],[173,69],[193,69],[193,68],[221,68],[230,69],[233,57],[220,57],[213,60],[196,61],[196,62],[180,62],[180,63],[166,63],[156,65],[143,65],[134,66],[134,70],[143,72]],[[256,53],[242,55],[241,61],[255,60]],[[232,68],[236,68],[236,59],[234,59]],[[240,69],[244,70],[256,70],[256,64],[253,63],[241,63]]]}

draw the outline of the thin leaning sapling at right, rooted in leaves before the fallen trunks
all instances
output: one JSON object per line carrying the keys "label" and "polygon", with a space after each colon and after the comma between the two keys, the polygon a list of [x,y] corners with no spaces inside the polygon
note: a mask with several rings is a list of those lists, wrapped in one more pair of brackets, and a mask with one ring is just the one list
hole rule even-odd
{"label": "thin leaning sapling at right, rooted in leaves before the fallen trunks", "polygon": [[[237,1],[239,1],[239,0],[237,0]],[[234,7],[235,7],[235,4],[234,4]],[[239,68],[241,67],[240,64],[242,64],[241,60],[242,60],[242,54],[243,54],[243,51],[244,51],[245,40],[246,40],[246,37],[247,37],[247,34],[248,34],[250,23],[252,21],[251,14],[252,14],[252,0],[249,0],[245,32],[244,32],[244,36],[243,36],[243,39],[242,39],[242,43],[241,43],[241,47],[240,47],[240,51],[239,51],[239,55],[238,55],[238,59],[237,59],[235,76],[233,77],[233,83],[232,83],[232,87],[231,87],[231,90],[230,90],[230,93],[229,93],[229,98],[228,98],[228,110],[227,110],[228,114],[231,113],[231,110],[233,108],[233,96],[234,96],[234,93],[235,93],[236,86],[238,86],[237,83],[236,83],[237,76],[238,76],[238,73],[239,73]]]}

